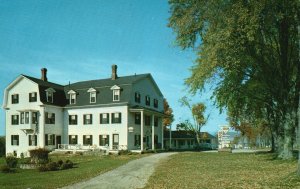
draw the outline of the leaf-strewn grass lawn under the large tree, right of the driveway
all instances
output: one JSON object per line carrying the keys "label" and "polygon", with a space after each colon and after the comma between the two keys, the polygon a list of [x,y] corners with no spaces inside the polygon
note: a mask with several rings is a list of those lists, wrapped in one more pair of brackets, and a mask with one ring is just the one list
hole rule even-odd
{"label": "leaf-strewn grass lawn under the large tree, right of the driveway", "polygon": [[146,188],[300,188],[296,160],[272,154],[186,152],[162,162]]}

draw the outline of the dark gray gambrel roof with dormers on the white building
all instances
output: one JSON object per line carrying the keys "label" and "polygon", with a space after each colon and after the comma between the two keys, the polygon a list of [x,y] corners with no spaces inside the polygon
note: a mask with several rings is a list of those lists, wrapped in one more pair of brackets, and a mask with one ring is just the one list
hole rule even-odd
{"label": "dark gray gambrel roof with dormers on the white building", "polygon": [[[89,80],[63,86],[51,82],[46,82],[30,76],[23,76],[39,85],[41,102],[45,104],[53,104],[66,107],[113,103],[111,87],[114,85],[117,85],[121,88],[121,98],[117,103],[128,103],[130,102],[130,98],[132,96],[132,84],[147,77],[152,78],[150,74],[140,74],[118,77],[116,80],[112,80],[111,78]],[[53,103],[48,103],[46,100],[45,90],[48,88],[53,88],[56,91],[54,93]],[[94,88],[97,91],[97,100],[95,104],[90,104],[90,94],[87,92],[90,88]],[[76,92],[76,104],[69,104],[68,92],[70,90]]]}

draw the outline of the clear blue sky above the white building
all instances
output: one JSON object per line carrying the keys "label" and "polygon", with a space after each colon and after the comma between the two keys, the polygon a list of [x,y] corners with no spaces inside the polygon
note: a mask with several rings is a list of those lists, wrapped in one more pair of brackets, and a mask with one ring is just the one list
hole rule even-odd
{"label": "clear blue sky above the white building", "polygon": [[[175,115],[173,128],[190,117],[178,99],[196,56],[175,46],[167,27],[169,7],[161,0],[0,0],[0,98],[20,74],[68,84],[118,75],[151,73]],[[215,133],[226,115],[212,106],[210,91],[193,96],[208,106],[203,131]],[[2,100],[3,101],[3,100]],[[0,114],[4,135],[4,111]]]}

